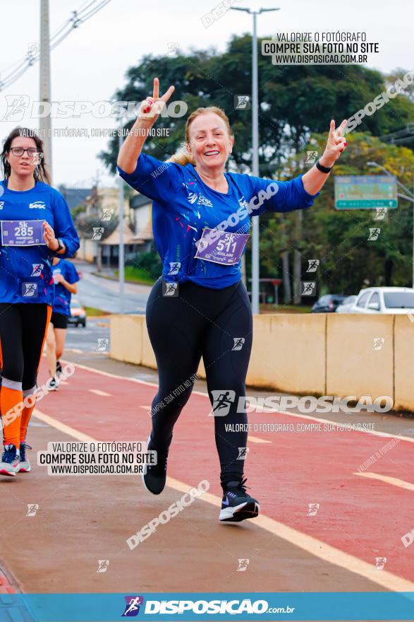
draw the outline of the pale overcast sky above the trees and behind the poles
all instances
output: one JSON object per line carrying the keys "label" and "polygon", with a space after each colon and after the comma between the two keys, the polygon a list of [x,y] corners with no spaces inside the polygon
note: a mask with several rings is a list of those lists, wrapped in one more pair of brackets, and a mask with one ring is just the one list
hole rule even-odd
{"label": "pale overcast sky above the trees and behind the poles", "polygon": [[[49,0],[51,35],[71,17],[72,11],[89,2]],[[25,57],[28,45],[39,41],[40,0],[2,4],[0,81],[6,78],[11,65]],[[215,0],[111,0],[51,52],[51,99],[109,100],[115,90],[126,83],[124,75],[129,66],[138,64],[144,54],[166,54],[170,42],[177,42],[183,52],[211,46],[223,51],[231,35],[251,31],[252,17],[240,11],[227,11],[205,28],[203,16],[218,4]],[[370,56],[367,66],[381,71],[391,71],[398,66],[414,69],[412,0],[384,4],[377,0],[262,0],[260,4],[257,0],[235,0],[233,6],[281,8],[258,17],[260,37],[292,31],[363,31],[367,33],[367,41],[379,43],[380,50],[379,54]],[[250,62],[250,58],[246,62]],[[3,120],[7,110],[5,97],[11,95],[39,99],[38,63],[0,92],[2,141],[16,124],[38,125],[37,119],[27,117],[18,122]],[[179,95],[176,93],[175,98],[179,99]],[[114,122],[92,115],[52,121],[54,128],[66,126],[110,128],[114,127]],[[108,175],[97,160],[97,153],[107,142],[105,138],[53,139],[54,185],[90,186],[97,173],[101,184],[114,185],[115,177]]]}

